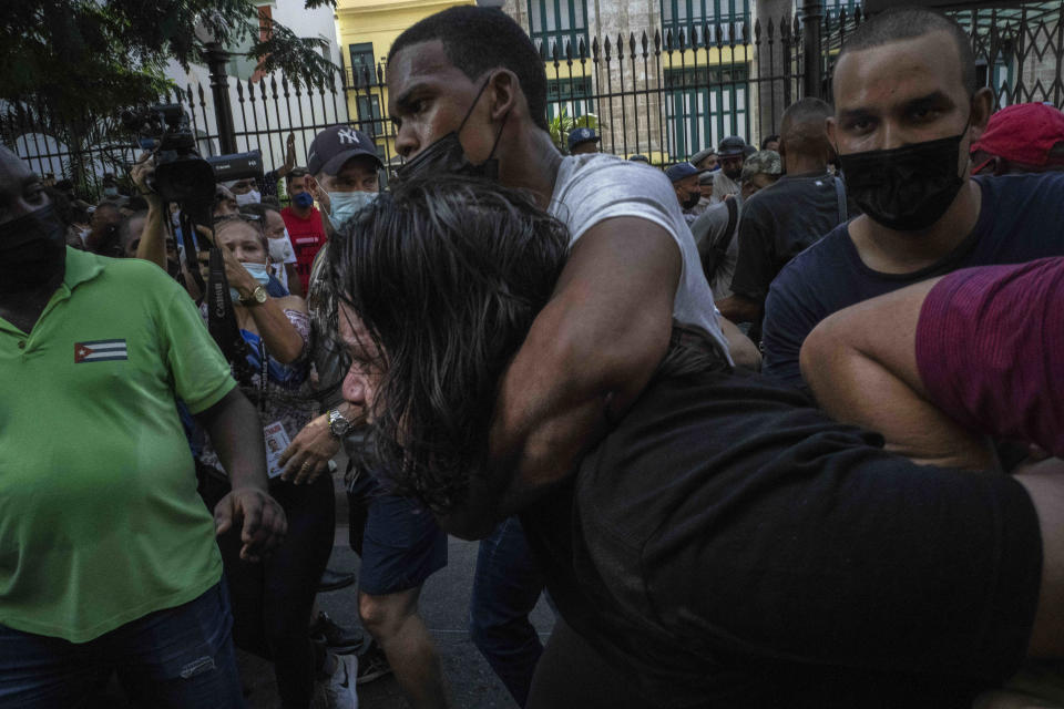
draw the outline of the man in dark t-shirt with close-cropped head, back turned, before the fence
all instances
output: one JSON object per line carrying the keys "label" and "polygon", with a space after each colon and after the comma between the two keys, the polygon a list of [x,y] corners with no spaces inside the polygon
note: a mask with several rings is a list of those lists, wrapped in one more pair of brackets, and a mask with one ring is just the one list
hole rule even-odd
{"label": "man in dark t-shirt with close-cropped head, back turned, before the fence", "polygon": [[828,173],[835,153],[825,127],[830,115],[819,99],[802,99],[784,113],[779,152],[786,174],[744,205],[732,296],[717,302],[733,322],[760,322],[779,269],[846,220],[842,183]]}

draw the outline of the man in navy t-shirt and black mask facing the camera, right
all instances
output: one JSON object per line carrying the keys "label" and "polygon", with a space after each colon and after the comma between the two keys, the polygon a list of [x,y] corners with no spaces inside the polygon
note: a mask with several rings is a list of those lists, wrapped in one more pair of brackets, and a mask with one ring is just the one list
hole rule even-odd
{"label": "man in navy t-shirt and black mask facing the camera, right", "polygon": [[953,20],[872,18],[847,37],[833,92],[828,135],[864,214],[788,264],[766,299],[763,371],[796,387],[801,343],[837,310],[958,268],[1064,254],[1064,175],[971,178],[993,93],[976,90]]}

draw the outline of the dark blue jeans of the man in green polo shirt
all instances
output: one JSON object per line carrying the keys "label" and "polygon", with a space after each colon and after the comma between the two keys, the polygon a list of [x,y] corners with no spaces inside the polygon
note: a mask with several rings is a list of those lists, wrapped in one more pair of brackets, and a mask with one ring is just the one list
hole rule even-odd
{"label": "dark blue jeans of the man in green polo shirt", "polygon": [[225,584],[88,643],[0,626],[0,707],[84,707],[117,671],[134,706],[244,707]]}

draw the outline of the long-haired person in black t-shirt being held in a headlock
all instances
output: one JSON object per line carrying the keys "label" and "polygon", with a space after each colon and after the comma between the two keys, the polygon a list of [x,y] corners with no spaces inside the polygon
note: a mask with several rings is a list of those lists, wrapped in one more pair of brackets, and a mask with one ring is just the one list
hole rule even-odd
{"label": "long-haired person in black t-shirt being held in a headlock", "polygon": [[675,325],[573,469],[499,496],[478,481],[491,403],[551,307],[567,230],[452,176],[406,183],[342,237],[344,395],[389,484],[443,517],[472,495],[489,522],[512,505],[559,626],[602,660],[557,661],[552,638],[529,709],[966,709],[1026,656],[1064,655],[1058,474],[918,465]]}

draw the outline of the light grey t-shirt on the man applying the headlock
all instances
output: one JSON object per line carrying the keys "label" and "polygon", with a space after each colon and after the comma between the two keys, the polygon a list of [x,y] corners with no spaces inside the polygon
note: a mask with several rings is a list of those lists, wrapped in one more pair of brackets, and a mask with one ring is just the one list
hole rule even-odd
{"label": "light grey t-shirt on the man applying the headlock", "polygon": [[683,257],[673,317],[703,328],[728,351],[695,239],[663,172],[603,153],[570,155],[557,169],[550,213],[569,227],[573,244],[591,227],[614,217],[640,217],[668,232]]}

